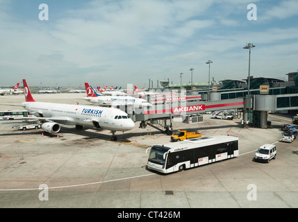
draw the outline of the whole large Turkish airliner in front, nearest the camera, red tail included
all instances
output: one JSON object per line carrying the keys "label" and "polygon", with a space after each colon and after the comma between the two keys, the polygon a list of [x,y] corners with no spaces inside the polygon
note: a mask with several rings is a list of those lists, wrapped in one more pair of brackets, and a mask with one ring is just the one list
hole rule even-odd
{"label": "whole large Turkish airliner in front, nearest the camera, red tail included", "polygon": [[35,117],[23,117],[22,119],[38,119],[42,122],[41,128],[47,133],[58,133],[60,124],[75,125],[76,129],[87,126],[99,130],[110,130],[113,133],[111,140],[116,141],[116,131],[124,132],[135,126],[126,112],[116,108],[36,102],[31,95],[26,79],[23,79],[23,84],[25,102],[20,106],[23,106]]}

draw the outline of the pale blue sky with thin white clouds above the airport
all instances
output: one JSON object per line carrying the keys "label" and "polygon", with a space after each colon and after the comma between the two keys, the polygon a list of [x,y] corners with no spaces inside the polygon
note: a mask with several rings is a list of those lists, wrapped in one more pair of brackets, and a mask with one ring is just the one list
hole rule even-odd
{"label": "pale blue sky with thin white clouds above the airport", "polygon": [[[39,8],[45,3],[46,8]],[[254,8],[248,8],[254,3]],[[297,0],[0,0],[0,85],[148,87],[288,79],[298,69]],[[48,12],[48,13],[47,13]],[[42,19],[48,15],[48,19]],[[251,19],[253,17],[254,19]]]}

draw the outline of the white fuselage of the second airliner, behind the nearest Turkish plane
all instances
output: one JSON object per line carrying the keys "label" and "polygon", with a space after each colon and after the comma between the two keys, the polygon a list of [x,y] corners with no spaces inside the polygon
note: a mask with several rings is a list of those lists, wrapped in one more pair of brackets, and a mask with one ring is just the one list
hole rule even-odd
{"label": "white fuselage of the second airliner, behind the nearest Turkish plane", "polygon": [[144,99],[134,98],[132,96],[98,96],[98,97],[85,97],[90,103],[97,103],[102,105],[135,105],[135,106],[151,106]]}

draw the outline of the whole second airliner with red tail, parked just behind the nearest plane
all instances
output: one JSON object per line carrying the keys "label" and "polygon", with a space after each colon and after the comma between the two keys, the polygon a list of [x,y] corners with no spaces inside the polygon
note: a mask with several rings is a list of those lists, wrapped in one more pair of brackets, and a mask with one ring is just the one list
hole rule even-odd
{"label": "whole second airliner with red tail, parked just behind the nearest plane", "polygon": [[144,99],[134,98],[132,96],[102,96],[95,92],[89,83],[85,83],[87,97],[83,98],[90,103],[97,103],[99,105],[135,105],[135,106],[152,106]]}

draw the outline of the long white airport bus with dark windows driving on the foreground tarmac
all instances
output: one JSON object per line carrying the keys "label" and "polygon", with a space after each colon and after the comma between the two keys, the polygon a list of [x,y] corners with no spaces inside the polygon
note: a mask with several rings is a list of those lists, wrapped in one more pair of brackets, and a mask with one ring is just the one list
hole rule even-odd
{"label": "long white airport bus with dark windows driving on the foreground tarmac", "polygon": [[[182,171],[239,155],[238,137],[213,136],[155,145],[150,150],[148,169],[161,173]],[[146,153],[147,153],[146,151]]]}

